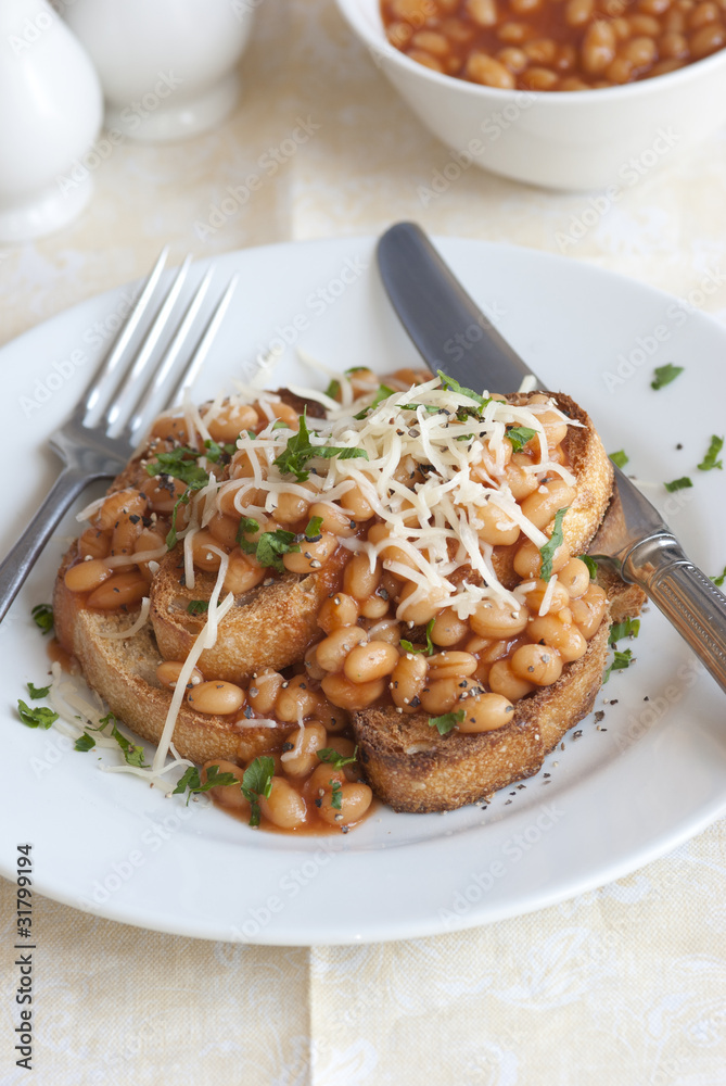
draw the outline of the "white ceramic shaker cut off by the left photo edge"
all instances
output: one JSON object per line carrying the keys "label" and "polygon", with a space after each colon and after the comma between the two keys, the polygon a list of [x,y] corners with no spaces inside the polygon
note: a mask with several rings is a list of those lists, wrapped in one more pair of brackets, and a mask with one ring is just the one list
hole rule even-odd
{"label": "white ceramic shaker cut off by the left photo edge", "polygon": [[0,2],[0,241],[58,230],[92,191],[82,157],[103,96],[85,50],[46,0]]}

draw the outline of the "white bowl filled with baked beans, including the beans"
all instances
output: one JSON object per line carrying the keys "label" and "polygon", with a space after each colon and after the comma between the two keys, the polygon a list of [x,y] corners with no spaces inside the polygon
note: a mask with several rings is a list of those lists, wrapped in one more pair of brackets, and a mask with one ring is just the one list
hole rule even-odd
{"label": "white bowl filled with baked beans, including the beans", "polygon": [[433,192],[470,165],[547,188],[626,189],[726,123],[726,0],[337,5],[446,143]]}

